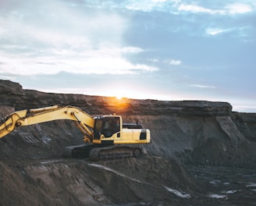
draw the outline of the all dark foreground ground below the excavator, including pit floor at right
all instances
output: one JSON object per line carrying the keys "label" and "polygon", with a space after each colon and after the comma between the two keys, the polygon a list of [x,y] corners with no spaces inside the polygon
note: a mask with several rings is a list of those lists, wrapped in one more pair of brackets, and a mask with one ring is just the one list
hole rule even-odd
{"label": "all dark foreground ground below the excavator, including pit floor at right", "polygon": [[0,205],[254,205],[254,169],[154,156],[0,162]]}

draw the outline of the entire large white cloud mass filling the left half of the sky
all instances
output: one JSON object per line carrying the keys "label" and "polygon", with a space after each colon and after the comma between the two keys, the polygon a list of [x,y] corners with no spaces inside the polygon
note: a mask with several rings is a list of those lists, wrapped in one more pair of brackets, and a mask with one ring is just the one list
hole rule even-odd
{"label": "entire large white cloud mass filling the left half of the sky", "polygon": [[[158,70],[125,55],[144,49],[123,46],[129,25],[117,12],[81,10],[61,1],[33,1],[30,9],[0,11],[0,73],[145,73]],[[32,7],[32,8],[31,8]],[[38,9],[40,8],[40,9]]]}

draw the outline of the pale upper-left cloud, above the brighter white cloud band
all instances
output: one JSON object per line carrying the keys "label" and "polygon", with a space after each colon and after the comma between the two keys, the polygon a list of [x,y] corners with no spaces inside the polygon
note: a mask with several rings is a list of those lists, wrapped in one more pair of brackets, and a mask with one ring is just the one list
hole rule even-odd
{"label": "pale upper-left cloud, above the brighter white cloud band", "polygon": [[22,18],[22,11],[16,12],[19,15],[8,13],[0,17],[2,39],[5,39],[1,43],[19,42],[37,47],[97,47],[104,41],[120,44],[127,25],[123,16],[108,12],[91,12],[89,15],[77,9],[66,11],[66,5],[55,7],[52,4],[47,12],[39,14],[28,11]]}

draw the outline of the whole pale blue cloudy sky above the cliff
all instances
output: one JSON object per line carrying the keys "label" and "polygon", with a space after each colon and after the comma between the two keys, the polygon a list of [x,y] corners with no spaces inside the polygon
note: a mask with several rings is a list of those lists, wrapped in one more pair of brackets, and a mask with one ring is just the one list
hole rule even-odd
{"label": "whole pale blue cloudy sky above the cliff", "polygon": [[255,0],[1,0],[0,79],[256,112]]}

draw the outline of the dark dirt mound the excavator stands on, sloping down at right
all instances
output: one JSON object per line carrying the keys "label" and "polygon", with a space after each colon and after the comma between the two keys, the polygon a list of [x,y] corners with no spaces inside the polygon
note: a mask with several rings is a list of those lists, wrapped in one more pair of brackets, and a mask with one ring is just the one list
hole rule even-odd
{"label": "dark dirt mound the excavator stands on, sloping down at right", "polygon": [[2,205],[166,204],[202,194],[187,169],[152,156],[112,162],[42,159],[0,167]]}

